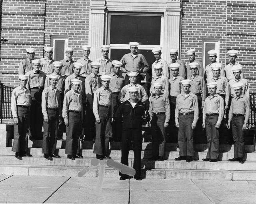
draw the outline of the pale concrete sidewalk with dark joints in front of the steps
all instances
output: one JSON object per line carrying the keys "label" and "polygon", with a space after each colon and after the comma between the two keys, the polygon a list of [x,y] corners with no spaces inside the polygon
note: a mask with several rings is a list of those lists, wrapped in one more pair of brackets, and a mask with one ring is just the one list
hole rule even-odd
{"label": "pale concrete sidewalk with dark joints in front of the steps", "polygon": [[0,203],[190,203],[256,204],[256,181],[0,175]]}

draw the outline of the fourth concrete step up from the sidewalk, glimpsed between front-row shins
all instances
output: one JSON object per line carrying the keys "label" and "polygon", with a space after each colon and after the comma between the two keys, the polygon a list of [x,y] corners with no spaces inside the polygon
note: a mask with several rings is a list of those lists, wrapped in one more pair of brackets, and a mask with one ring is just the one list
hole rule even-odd
{"label": "fourth concrete step up from the sidewalk, glimpsed between front-row shins", "polygon": [[[13,141],[13,139],[11,139]],[[12,144],[12,142],[11,142]],[[11,145],[12,146],[12,145]],[[94,142],[92,141],[80,141],[81,149],[93,149]],[[42,147],[42,140],[28,140],[28,147]],[[65,149],[66,140],[57,140],[56,147],[58,149]],[[122,147],[121,142],[110,142],[110,149],[112,150],[120,150]],[[131,146],[131,149],[132,146]],[[142,142],[142,150],[150,150],[152,149],[151,142]],[[245,152],[255,152],[255,145],[244,145]],[[166,143],[165,145],[166,151],[179,151],[178,143]],[[194,151],[207,151],[207,144],[194,144]],[[234,152],[234,145],[220,145],[220,152]]]}

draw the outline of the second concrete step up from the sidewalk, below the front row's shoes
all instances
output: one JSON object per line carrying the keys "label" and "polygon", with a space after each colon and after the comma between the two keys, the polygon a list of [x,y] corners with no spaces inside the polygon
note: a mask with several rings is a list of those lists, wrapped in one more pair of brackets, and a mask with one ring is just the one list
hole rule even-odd
{"label": "second concrete step up from the sidewalk, below the front row's shoes", "polygon": [[[119,158],[113,158],[120,162]],[[52,161],[42,156],[22,157],[22,160],[16,159],[14,156],[1,155],[0,165],[30,165],[30,166],[59,166],[59,167],[92,167],[92,158],[71,160],[67,158],[54,158]],[[133,166],[133,159],[129,159],[129,166]],[[244,164],[239,162],[218,161],[215,163],[204,161],[174,161],[168,159],[164,161],[141,160],[143,169],[191,169],[191,170],[228,170],[228,171],[256,171],[255,161],[246,161]]]}

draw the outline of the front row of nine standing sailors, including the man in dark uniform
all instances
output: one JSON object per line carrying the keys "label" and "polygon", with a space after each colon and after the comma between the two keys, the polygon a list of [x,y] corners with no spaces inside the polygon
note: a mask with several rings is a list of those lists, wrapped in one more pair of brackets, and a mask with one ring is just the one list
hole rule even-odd
{"label": "front row of nine standing sailors, including the man in dark uniform", "polygon": [[[60,91],[56,89],[58,75],[49,75],[50,86],[42,92],[42,113],[44,115],[44,135],[42,153],[46,159],[60,157],[56,153],[58,124],[64,119],[66,125],[66,151],[69,159],[83,158],[79,137],[82,133],[83,102],[80,86],[82,81],[72,79],[71,90],[64,96],[61,109]],[[109,89],[110,76],[102,75],[102,86],[94,92],[93,113],[96,118],[96,139],[94,153],[97,159],[110,159],[109,135],[110,123],[113,120],[122,120],[122,157],[121,163],[128,165],[130,145],[133,143],[134,178],[140,178],[140,160],[142,151],[142,122],[150,122],[152,128],[152,158],[164,160],[166,143],[165,128],[170,119],[170,101],[162,91],[162,83],[153,84],[154,94],[149,99],[149,110],[138,99],[139,86],[128,88],[128,100],[125,100],[113,114],[113,93]],[[31,92],[26,88],[28,76],[19,75],[20,85],[12,92],[12,114],[14,117],[14,144],[12,151],[15,157],[21,159],[27,154],[28,133],[30,124]],[[179,157],[175,160],[193,161],[193,131],[199,116],[198,97],[190,92],[191,80],[182,80],[183,91],[176,98],[175,125],[178,128]],[[206,97],[203,107],[202,127],[206,129],[208,153],[203,161],[216,162],[219,156],[219,129],[224,116],[224,100],[216,94],[217,82],[207,84],[209,96]],[[243,131],[250,116],[249,99],[242,94],[243,84],[232,85],[236,96],[232,98],[228,128],[232,127],[234,137],[234,158],[229,161],[244,163]],[[173,113],[172,113],[173,114]],[[120,179],[127,179],[127,175],[120,173]]]}

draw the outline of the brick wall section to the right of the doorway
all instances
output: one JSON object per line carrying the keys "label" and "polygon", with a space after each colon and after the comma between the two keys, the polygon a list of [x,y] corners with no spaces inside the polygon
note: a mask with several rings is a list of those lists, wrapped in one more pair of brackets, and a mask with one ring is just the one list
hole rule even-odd
{"label": "brick wall section to the right of the doorway", "polygon": [[250,92],[256,93],[255,28],[256,2],[184,1],[182,17],[181,59],[188,63],[186,51],[196,49],[202,59],[202,39],[220,39],[220,63],[229,63],[229,49],[237,49],[237,61],[243,65]]}

